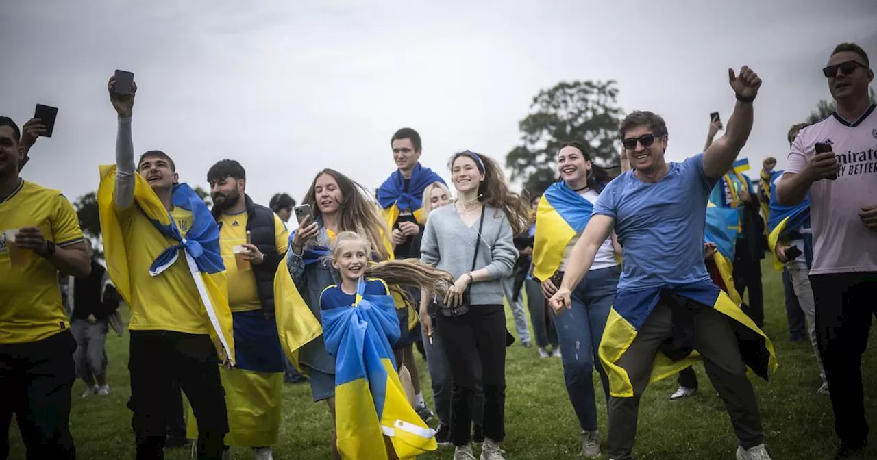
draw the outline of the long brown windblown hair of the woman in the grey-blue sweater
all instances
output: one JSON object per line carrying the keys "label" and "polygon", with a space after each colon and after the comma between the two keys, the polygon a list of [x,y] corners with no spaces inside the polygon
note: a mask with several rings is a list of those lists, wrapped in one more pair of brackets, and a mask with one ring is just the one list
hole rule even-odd
{"label": "long brown windblown hair of the woman in the grey-blue sweater", "polygon": [[530,227],[532,211],[524,204],[521,195],[510,190],[499,163],[487,155],[467,150],[454,154],[448,162],[448,168],[453,170],[453,162],[461,156],[474,159],[479,172],[484,174],[484,180],[478,186],[478,200],[482,204],[503,210],[505,216],[509,218],[512,235],[520,235],[527,230]]}

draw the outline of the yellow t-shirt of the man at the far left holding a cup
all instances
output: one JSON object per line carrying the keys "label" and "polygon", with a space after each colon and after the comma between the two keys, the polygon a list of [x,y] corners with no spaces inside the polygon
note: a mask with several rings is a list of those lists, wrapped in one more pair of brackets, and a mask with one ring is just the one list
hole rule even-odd
{"label": "yellow t-shirt of the man at the far left holding a cup", "polygon": [[36,342],[69,329],[58,270],[32,251],[11,248],[7,231],[38,227],[58,247],[80,243],[82,230],[73,206],[58,190],[22,180],[0,202],[0,226],[0,343]]}

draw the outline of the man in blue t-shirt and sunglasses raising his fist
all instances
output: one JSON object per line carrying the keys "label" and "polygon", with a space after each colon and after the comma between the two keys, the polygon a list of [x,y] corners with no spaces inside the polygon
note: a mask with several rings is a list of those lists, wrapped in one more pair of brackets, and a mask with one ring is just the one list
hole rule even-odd
{"label": "man in blue t-shirt and sunglasses raising his fist", "polygon": [[[662,343],[679,336],[685,322],[693,348],[705,360],[710,379],[725,401],[740,446],[738,460],[768,460],[755,393],[728,316],[712,305],[676,293],[717,288],[703,262],[703,234],[709,192],[731,168],[752,131],[752,101],[761,80],[748,67],[728,71],[738,103],[722,138],[681,163],[667,163],[667,126],[647,111],[635,111],[621,124],[624,153],[632,170],[612,180],[595,203],[594,215],[575,244],[563,282],[551,299],[555,311],[569,308],[570,293],[584,276],[600,244],[615,230],[624,247],[618,282],[620,303],[640,294],[660,299],[635,305],[638,328],[614,364],[626,372],[630,393],[613,390],[609,400],[610,459],[631,460],[639,398],[645,391]],[[686,294],[682,294],[686,295]],[[688,294],[690,295],[690,294]],[[714,297],[715,298],[715,297]],[[640,308],[642,307],[642,308]],[[616,308],[614,308],[616,309]],[[688,322],[686,322],[688,321]],[[636,328],[636,326],[634,326]],[[607,335],[609,329],[607,329]],[[603,343],[607,341],[603,336]],[[603,357],[601,346],[601,357]]]}

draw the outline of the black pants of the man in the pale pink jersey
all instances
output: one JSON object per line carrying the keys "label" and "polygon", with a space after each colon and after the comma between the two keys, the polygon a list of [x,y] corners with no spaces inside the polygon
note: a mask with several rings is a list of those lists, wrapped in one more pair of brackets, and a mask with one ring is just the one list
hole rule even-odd
{"label": "black pants of the man in the pale pink jersey", "polygon": [[862,353],[868,344],[871,317],[877,316],[877,272],[810,276],[816,301],[816,341],[831,390],[834,428],[852,447],[868,436]]}

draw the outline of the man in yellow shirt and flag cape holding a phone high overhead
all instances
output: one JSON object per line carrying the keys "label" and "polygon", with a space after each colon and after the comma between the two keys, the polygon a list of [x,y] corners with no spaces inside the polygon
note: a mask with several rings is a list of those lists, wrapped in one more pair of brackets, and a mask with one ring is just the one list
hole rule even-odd
{"label": "man in yellow shirt and flag cape holding a phone high overhead", "polygon": [[234,364],[234,355],[217,224],[178,183],[166,153],[146,152],[135,165],[134,94],[117,94],[114,79],[108,89],[118,113],[116,165],[102,168],[97,202],[107,268],[131,306],[128,407],[137,458],[163,458],[178,385],[199,424],[197,458],[218,460],[228,417],[217,363]]}

